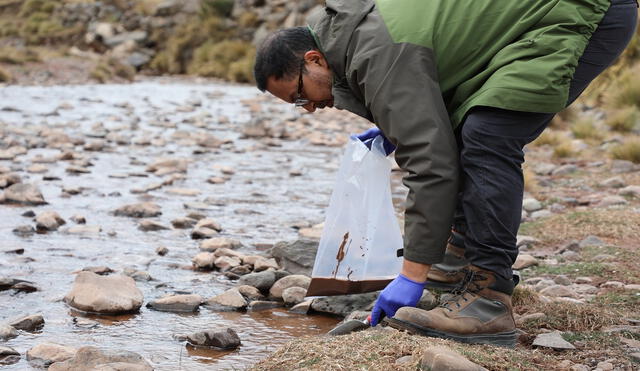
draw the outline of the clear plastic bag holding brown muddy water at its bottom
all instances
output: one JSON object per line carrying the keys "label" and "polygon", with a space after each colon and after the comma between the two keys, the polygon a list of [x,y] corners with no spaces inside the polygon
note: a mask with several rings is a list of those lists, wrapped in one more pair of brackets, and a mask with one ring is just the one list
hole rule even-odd
{"label": "clear plastic bag holding brown muddy water at its bottom", "polygon": [[400,226],[391,202],[391,161],[351,138],[331,194],[307,296],[383,289],[400,272]]}

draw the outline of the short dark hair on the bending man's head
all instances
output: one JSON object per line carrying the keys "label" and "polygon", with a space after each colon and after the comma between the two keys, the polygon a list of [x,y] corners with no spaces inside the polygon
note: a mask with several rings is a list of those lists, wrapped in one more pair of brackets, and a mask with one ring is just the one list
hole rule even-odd
{"label": "short dark hair on the bending man's head", "polygon": [[267,79],[281,79],[300,71],[300,60],[309,50],[317,50],[316,42],[307,27],[292,27],[269,35],[256,52],[253,75],[262,92],[267,90]]}

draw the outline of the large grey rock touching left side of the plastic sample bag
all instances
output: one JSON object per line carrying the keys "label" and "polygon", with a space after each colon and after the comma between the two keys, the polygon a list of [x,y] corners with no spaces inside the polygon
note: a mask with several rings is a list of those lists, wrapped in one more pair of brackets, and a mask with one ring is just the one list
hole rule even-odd
{"label": "large grey rock touching left side of the plastic sample bag", "polygon": [[283,269],[293,274],[310,276],[317,250],[317,241],[297,240],[291,243],[279,242],[271,248],[269,254]]}

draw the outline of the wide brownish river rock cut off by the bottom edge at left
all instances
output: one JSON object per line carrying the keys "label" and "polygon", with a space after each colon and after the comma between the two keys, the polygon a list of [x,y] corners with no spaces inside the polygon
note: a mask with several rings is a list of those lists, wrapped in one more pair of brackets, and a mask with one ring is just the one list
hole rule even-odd
{"label": "wide brownish river rock cut off by the bottom edge at left", "polygon": [[100,350],[86,346],[78,349],[73,358],[56,362],[49,371],[77,370],[135,370],[153,371],[153,367],[139,354],[126,350]]}

